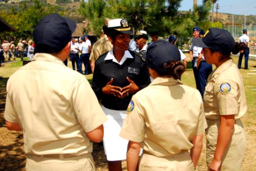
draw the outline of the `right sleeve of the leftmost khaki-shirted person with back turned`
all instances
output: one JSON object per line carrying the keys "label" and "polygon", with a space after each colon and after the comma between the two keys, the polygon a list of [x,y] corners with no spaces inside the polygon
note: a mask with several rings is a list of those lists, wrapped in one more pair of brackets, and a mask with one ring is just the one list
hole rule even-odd
{"label": "right sleeve of the leftmost khaki-shirted person with back turned", "polygon": [[71,105],[85,132],[93,131],[107,120],[93,89],[85,78],[77,80],[72,91]]}

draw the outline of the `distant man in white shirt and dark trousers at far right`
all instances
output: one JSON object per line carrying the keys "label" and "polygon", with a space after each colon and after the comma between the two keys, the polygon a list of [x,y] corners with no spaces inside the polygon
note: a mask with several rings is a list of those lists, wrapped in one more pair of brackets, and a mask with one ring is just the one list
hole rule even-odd
{"label": "distant man in white shirt and dark trousers at far right", "polygon": [[243,59],[243,55],[245,55],[245,70],[248,70],[248,59],[249,59],[249,52],[250,52],[250,48],[249,48],[249,36],[247,36],[248,32],[246,29],[243,29],[243,35],[239,37],[238,42],[241,43],[245,43],[246,44],[246,48],[243,51],[240,51],[240,55],[239,55],[239,59],[238,59],[238,68],[241,68],[241,64],[242,64],[242,59]]}

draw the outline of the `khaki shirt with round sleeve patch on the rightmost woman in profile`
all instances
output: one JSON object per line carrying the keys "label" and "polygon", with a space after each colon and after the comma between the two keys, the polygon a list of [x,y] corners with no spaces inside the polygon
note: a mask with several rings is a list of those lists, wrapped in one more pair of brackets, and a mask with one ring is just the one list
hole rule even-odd
{"label": "khaki shirt with round sleeve patch on the rightmost woman in profile", "polygon": [[209,75],[203,106],[206,119],[219,119],[219,115],[235,115],[235,119],[239,119],[245,115],[247,104],[243,80],[232,59]]}

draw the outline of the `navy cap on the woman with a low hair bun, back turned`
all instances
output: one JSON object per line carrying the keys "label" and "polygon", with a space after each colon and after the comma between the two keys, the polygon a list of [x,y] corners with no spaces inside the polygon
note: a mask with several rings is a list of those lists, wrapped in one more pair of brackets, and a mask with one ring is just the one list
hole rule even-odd
{"label": "navy cap on the woman with a low hair bun, back turned", "polygon": [[146,64],[157,71],[158,74],[165,75],[169,72],[167,68],[162,68],[162,65],[171,60],[181,60],[181,53],[173,43],[165,40],[158,40],[147,48]]}

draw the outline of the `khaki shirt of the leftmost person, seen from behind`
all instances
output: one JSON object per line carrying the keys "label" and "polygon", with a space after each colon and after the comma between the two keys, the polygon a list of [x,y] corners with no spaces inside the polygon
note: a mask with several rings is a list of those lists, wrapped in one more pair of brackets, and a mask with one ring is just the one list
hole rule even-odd
{"label": "khaki shirt of the leftmost person, seen from behind", "polygon": [[77,156],[91,153],[86,132],[107,120],[85,77],[42,53],[8,80],[5,119],[21,126],[26,153]]}

